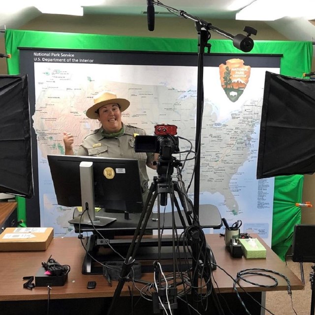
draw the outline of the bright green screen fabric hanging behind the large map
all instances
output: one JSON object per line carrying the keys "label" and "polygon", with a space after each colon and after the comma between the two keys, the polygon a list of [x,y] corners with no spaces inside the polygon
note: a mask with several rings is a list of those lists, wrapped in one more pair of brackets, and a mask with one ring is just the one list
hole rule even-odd
{"label": "bright green screen fabric hanging behind the large map", "polygon": [[[9,74],[19,74],[18,47],[195,53],[198,51],[197,32],[196,39],[21,30],[6,30],[4,36],[6,53],[11,55],[11,58],[7,60]],[[242,53],[233,46],[231,40],[213,39],[209,43],[211,44],[211,53]],[[280,73],[301,78],[303,73],[311,71],[313,45],[312,42],[301,41],[254,40],[254,47],[250,54],[283,55]],[[295,175],[275,179],[272,248],[282,259],[284,259],[291,244],[293,227],[301,221],[301,209],[296,207],[295,203],[301,201],[302,187],[303,176]],[[21,207],[18,207],[18,210],[19,218],[26,220],[23,203]]]}

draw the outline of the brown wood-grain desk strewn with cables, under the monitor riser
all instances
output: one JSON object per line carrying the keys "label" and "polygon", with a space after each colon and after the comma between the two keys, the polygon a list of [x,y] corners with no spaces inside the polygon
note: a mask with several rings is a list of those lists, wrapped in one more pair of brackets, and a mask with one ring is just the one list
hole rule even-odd
{"label": "brown wood-grain desk strewn with cables, under the monitor riser", "polygon": [[[256,237],[254,234],[252,236]],[[224,268],[226,272],[232,275],[232,277],[235,278],[236,273],[243,269],[266,268],[284,274],[289,279],[292,290],[303,289],[304,285],[301,281],[285,266],[284,262],[282,262],[261,239],[261,243],[267,249],[266,259],[246,259],[244,257],[231,258],[228,250],[225,248],[223,237],[219,234],[210,234],[206,235],[206,239],[214,252],[217,264]],[[81,274],[82,261],[85,252],[81,246],[80,240],[76,237],[54,238],[45,252],[0,252],[0,301],[7,301],[0,302],[0,309],[3,310],[3,314],[31,314],[31,312],[18,313],[17,310],[19,308],[24,308],[25,310],[25,305],[26,307],[32,305],[32,315],[46,314],[48,297],[47,288],[36,287],[32,290],[24,289],[23,283],[25,281],[23,281],[22,278],[24,276],[35,275],[41,266],[41,262],[46,261],[50,255],[52,255],[52,258],[56,259],[59,263],[69,264],[71,266],[67,283],[62,287],[54,286],[50,291],[51,307],[53,307],[54,300],[59,300],[55,301],[56,303],[58,302],[57,309],[58,306],[61,307],[61,305],[63,305],[62,303],[64,303],[64,309],[69,307],[71,310],[74,310],[75,307],[77,307],[78,310],[81,310],[82,312],[82,308],[84,306],[91,308],[91,306],[89,306],[90,301],[93,305],[92,307],[94,308],[92,311],[89,309],[88,313],[86,313],[87,311],[85,311],[85,313],[80,313],[76,310],[73,313],[71,312],[71,314],[106,314],[104,313],[104,310],[107,309],[110,299],[104,299],[104,297],[113,296],[115,284],[117,283],[114,282],[113,286],[110,287],[101,275]],[[218,283],[221,293],[233,292],[233,281],[219,268],[213,272],[213,277]],[[276,276],[276,278],[279,280],[279,284],[274,290],[286,290],[286,283],[284,279],[278,276]],[[145,281],[151,281],[152,274],[144,274],[142,279]],[[94,280],[97,283],[96,288],[93,290],[86,288],[87,282],[91,280]],[[260,284],[271,284],[270,280],[258,276],[253,276],[251,280]],[[261,291],[272,290],[270,288],[256,287],[245,282],[241,283],[241,285],[246,288],[248,292],[253,293],[261,293]],[[218,291],[218,289],[216,290]],[[234,293],[232,294],[235,295]],[[128,295],[128,288],[127,285],[125,285],[121,296],[127,297]],[[66,301],[67,299],[68,302]],[[35,300],[36,304],[32,304],[31,302]],[[107,302],[105,302],[106,300]],[[14,302],[9,303],[8,301]],[[97,303],[101,303],[101,306],[97,306]],[[41,308],[41,313],[36,313],[36,307],[34,305]],[[16,308],[16,310],[14,310],[14,308]],[[130,310],[128,310],[127,314],[129,314],[129,312]],[[55,313],[51,312],[50,314]],[[65,312],[62,314],[70,313]]]}

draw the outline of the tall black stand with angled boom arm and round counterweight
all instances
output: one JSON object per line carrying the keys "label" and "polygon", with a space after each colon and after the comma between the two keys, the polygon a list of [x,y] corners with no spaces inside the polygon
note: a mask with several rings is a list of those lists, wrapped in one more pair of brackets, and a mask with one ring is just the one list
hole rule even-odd
{"label": "tall black stand with angled boom arm and round counterweight", "polygon": [[178,10],[173,7],[167,6],[160,1],[152,0],[152,4],[166,8],[168,11],[190,19],[195,22],[196,30],[198,32],[198,78],[197,78],[197,116],[196,116],[196,136],[195,136],[195,167],[194,167],[194,210],[195,213],[199,214],[199,189],[200,189],[200,146],[201,146],[201,127],[202,127],[202,113],[203,113],[203,55],[206,47],[209,48],[208,40],[211,35],[209,31],[216,32],[223,37],[226,37],[233,41],[234,47],[242,50],[243,52],[250,52],[253,48],[254,42],[250,37],[252,34],[256,35],[257,31],[251,27],[245,27],[244,32],[247,32],[247,35],[237,34],[232,35],[228,32],[225,32],[211,23],[204,21],[196,16],[192,16],[185,12],[184,10]]}

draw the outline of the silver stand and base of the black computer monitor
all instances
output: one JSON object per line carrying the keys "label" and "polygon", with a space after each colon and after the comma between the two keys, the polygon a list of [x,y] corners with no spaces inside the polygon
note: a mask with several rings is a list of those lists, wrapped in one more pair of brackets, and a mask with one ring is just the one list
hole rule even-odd
{"label": "silver stand and base of the black computer monitor", "polygon": [[95,216],[93,162],[83,161],[80,163],[80,186],[83,213],[68,221],[69,223],[105,226],[116,221],[116,218]]}

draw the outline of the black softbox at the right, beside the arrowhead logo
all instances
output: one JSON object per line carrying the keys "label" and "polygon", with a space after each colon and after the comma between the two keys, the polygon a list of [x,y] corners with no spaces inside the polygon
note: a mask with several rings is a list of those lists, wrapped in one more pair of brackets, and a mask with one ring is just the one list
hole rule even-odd
{"label": "black softbox at the right, beside the arrowhead logo", "polygon": [[266,71],[257,179],[315,172],[315,81]]}

